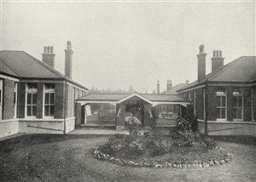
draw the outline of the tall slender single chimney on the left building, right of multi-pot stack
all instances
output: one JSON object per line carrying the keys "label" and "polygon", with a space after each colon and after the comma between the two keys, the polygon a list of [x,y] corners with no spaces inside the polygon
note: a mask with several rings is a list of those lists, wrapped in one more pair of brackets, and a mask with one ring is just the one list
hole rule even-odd
{"label": "tall slender single chimney on the left building, right of multi-pot stack", "polygon": [[71,42],[67,41],[67,49],[65,49],[65,76],[72,79],[72,62],[73,62],[73,50],[71,48]]}

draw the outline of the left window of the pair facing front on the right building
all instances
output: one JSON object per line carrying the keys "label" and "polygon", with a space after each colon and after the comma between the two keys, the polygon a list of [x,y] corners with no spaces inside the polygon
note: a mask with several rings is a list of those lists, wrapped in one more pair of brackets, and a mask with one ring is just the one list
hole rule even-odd
{"label": "left window of the pair facing front on the right building", "polygon": [[226,88],[218,88],[217,97],[217,119],[226,119]]}

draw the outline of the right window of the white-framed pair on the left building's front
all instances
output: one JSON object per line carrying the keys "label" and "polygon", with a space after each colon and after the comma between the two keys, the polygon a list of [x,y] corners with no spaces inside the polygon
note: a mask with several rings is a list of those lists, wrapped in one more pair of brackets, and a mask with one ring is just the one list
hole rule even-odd
{"label": "right window of the white-framed pair on the left building's front", "polygon": [[55,117],[55,85],[44,85],[44,117]]}

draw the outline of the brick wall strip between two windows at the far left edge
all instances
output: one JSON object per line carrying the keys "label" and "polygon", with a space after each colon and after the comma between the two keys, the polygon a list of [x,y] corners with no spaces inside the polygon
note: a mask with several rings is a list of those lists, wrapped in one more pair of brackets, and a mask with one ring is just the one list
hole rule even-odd
{"label": "brick wall strip between two windows at the far left edge", "polygon": [[15,116],[15,81],[3,80],[3,120],[13,119]]}

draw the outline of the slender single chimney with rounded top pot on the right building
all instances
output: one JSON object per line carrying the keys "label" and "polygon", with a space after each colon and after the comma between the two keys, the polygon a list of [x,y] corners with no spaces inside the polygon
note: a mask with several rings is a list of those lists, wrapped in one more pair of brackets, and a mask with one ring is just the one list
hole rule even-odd
{"label": "slender single chimney with rounded top pot on the right building", "polygon": [[205,46],[199,47],[199,54],[197,54],[197,81],[201,82],[206,77],[206,57],[204,51]]}

